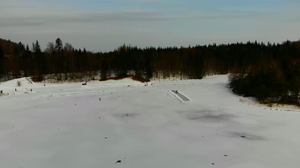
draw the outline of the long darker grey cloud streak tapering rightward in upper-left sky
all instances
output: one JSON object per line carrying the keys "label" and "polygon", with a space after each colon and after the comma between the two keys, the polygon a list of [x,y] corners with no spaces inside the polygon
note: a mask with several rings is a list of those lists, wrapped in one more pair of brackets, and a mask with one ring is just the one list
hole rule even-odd
{"label": "long darker grey cloud streak tapering rightward in upper-left sky", "polygon": [[0,26],[35,26],[58,23],[93,23],[108,21],[165,21],[170,19],[172,18],[164,17],[158,12],[48,13],[32,16],[0,16]]}

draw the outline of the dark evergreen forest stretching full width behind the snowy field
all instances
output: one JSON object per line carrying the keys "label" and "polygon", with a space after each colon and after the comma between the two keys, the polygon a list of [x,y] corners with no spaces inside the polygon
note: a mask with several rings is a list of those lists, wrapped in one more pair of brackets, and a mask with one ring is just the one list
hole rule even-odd
{"label": "dark evergreen forest stretching full width behind the snowy field", "polygon": [[39,41],[29,47],[0,39],[0,77],[45,75],[58,80],[124,77],[146,80],[177,77],[200,79],[209,74],[233,73],[229,86],[236,94],[261,101],[295,102],[300,91],[300,41],[282,44],[212,44],[193,47],[138,48],[123,45],[110,52],[75,49],[60,38],[42,50]]}

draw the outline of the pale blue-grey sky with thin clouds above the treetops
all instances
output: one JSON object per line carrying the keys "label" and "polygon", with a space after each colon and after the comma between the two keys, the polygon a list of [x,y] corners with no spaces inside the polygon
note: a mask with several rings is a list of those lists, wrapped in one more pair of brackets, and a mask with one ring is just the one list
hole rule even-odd
{"label": "pale blue-grey sky with thin clouds above the treetops", "polygon": [[106,52],[300,38],[298,0],[0,0],[0,38]]}

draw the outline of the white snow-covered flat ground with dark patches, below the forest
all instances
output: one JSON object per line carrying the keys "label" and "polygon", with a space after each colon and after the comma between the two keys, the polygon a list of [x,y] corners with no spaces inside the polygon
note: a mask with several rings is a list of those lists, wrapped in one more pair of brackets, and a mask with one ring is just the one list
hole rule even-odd
{"label": "white snow-covered flat ground with dark patches, below the forest", "polygon": [[244,104],[226,83],[2,82],[0,167],[299,167],[300,112]]}

